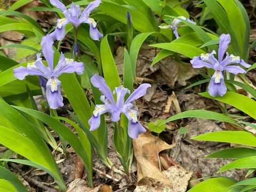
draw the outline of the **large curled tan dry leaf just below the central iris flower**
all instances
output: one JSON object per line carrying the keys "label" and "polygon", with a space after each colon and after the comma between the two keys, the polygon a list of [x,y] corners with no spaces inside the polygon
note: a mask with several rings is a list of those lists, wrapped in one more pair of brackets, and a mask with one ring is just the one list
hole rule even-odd
{"label": "large curled tan dry leaf just below the central iris flower", "polygon": [[132,143],[137,159],[138,186],[146,185],[148,178],[152,178],[171,187],[171,181],[159,170],[158,153],[172,148],[173,145],[167,144],[150,132],[140,134]]}

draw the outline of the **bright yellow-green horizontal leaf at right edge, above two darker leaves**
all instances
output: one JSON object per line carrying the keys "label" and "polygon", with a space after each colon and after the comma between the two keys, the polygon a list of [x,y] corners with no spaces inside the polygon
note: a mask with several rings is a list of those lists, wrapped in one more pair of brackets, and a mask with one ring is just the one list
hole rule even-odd
{"label": "bright yellow-green horizontal leaf at right edge, above two darker leaves", "polygon": [[228,142],[256,147],[256,137],[254,137],[252,133],[246,131],[218,131],[213,133],[202,134],[191,139],[203,141]]}

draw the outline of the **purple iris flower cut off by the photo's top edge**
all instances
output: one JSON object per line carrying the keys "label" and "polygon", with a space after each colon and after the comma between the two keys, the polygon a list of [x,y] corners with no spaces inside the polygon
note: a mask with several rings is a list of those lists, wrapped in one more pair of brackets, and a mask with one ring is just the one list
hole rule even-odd
{"label": "purple iris flower cut off by the photo's top edge", "polygon": [[89,18],[91,11],[102,3],[100,0],[95,0],[89,3],[83,13],[80,10],[80,6],[75,5],[74,2],[72,2],[69,9],[67,9],[66,6],[59,0],[50,0],[50,2],[53,6],[59,8],[66,17],[57,20],[57,27],[53,33],[50,34],[53,39],[60,41],[65,37],[65,27],[68,23],[72,23],[75,30],[78,29],[81,23],[89,23],[91,38],[93,40],[99,40],[102,37],[102,34],[96,27],[97,23],[94,21],[94,19]]}

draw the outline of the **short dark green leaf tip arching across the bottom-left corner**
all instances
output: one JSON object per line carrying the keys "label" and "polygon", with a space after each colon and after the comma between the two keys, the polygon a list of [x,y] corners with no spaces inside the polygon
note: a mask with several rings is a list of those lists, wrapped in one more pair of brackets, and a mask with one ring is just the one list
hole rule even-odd
{"label": "short dark green leaf tip arching across the bottom-left corner", "polygon": [[28,192],[25,186],[23,186],[22,182],[9,170],[0,166],[0,178],[3,178],[12,183],[12,185],[19,192]]}

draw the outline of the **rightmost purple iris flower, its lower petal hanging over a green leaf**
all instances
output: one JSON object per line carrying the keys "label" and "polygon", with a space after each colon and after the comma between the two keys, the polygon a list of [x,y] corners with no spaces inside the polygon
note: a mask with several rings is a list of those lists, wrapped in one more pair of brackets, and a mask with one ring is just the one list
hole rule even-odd
{"label": "rightmost purple iris flower, its lower petal hanging over a green leaf", "polygon": [[[214,54],[216,54],[216,52],[212,51],[211,53],[202,53],[199,57],[194,57],[193,60],[190,61],[194,68],[207,67],[215,70],[208,86],[209,94],[212,97],[215,97],[216,95],[223,96],[227,91],[222,71],[227,70],[229,73],[233,73],[235,75],[238,73],[246,73],[243,68],[234,65],[230,66],[230,64],[240,63],[246,68],[251,66],[244,62],[243,59],[240,59],[240,57],[233,54],[229,55],[228,52],[226,52],[230,40],[231,38],[229,34],[222,34],[220,36],[218,60],[214,58]],[[226,58],[223,59],[225,52]]]}

